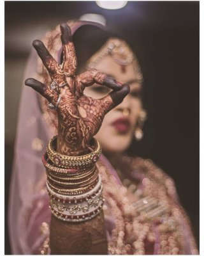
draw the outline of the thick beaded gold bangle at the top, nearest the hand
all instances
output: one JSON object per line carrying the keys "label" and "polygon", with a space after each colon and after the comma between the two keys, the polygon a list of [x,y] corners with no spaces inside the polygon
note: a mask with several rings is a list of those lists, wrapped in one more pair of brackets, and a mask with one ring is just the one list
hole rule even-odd
{"label": "thick beaded gold bangle at the top, nearest the hand", "polygon": [[102,152],[99,142],[95,138],[92,138],[92,141],[94,143],[95,149],[91,153],[84,156],[65,156],[55,151],[54,148],[56,148],[57,136],[54,136],[54,138],[49,141],[47,146],[48,158],[59,167],[85,168],[87,166],[91,166],[92,164],[95,164],[96,161],[98,161]]}

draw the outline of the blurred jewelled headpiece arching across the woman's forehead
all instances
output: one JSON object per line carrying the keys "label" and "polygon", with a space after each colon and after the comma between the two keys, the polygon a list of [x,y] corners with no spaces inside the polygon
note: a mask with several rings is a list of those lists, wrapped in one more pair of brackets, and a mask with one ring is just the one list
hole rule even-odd
{"label": "blurred jewelled headpiece arching across the woman's forehead", "polygon": [[95,66],[105,56],[110,56],[116,63],[122,66],[133,63],[135,67],[136,79],[139,83],[143,82],[142,71],[135,54],[129,45],[119,38],[110,38],[86,63],[86,69],[95,68]]}

